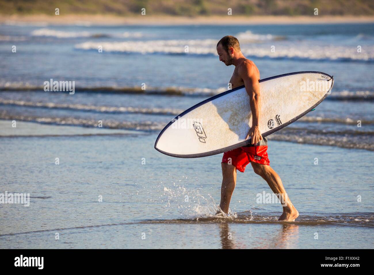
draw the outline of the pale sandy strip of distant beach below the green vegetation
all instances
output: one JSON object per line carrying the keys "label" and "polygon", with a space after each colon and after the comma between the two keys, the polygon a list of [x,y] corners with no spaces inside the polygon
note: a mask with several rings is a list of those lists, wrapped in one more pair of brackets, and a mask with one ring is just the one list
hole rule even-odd
{"label": "pale sandy strip of distant beach below the green vegetation", "polygon": [[1,24],[49,25],[260,25],[372,23],[374,16],[132,16],[112,15],[0,15]]}

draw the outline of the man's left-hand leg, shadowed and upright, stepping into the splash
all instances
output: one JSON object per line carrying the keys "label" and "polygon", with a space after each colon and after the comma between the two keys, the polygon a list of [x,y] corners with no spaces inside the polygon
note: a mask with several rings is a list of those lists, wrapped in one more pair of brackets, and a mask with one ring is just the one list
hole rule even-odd
{"label": "man's left-hand leg, shadowed and upright, stepping into the splash", "polygon": [[236,168],[234,165],[222,163],[222,186],[220,207],[224,213],[229,213],[231,195],[236,184]]}

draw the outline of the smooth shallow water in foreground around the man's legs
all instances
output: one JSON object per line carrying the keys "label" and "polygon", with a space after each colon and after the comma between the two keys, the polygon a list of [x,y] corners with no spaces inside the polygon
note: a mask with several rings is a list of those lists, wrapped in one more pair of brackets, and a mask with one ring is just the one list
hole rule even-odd
{"label": "smooth shallow water in foreground around the man's legs", "polygon": [[[1,121],[1,131],[10,125]],[[33,134],[40,124],[18,127]],[[271,190],[250,166],[222,218],[214,216],[221,155],[177,159],[153,149],[155,134],[96,128],[106,134],[81,136],[85,128],[64,126],[65,136],[62,126],[42,127],[63,136],[0,137],[2,189],[31,196],[29,207],[0,204],[2,248],[373,247],[370,151],[269,141],[272,167],[300,212],[288,223],[277,221],[280,204],[256,202]]]}

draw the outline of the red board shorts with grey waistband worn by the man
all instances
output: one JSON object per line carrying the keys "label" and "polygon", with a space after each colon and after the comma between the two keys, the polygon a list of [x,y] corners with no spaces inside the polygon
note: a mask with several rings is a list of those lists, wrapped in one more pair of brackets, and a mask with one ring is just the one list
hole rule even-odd
{"label": "red board shorts with grey waistband worn by the man", "polygon": [[263,138],[257,144],[248,144],[243,147],[228,151],[223,154],[221,163],[232,164],[240,172],[244,172],[249,162],[270,165],[267,156],[267,138]]}

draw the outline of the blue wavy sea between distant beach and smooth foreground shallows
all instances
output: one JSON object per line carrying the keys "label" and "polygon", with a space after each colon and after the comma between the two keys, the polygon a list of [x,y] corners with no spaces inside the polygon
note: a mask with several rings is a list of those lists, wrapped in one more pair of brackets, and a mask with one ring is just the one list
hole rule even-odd
{"label": "blue wavy sea between distant beach and smooth foreground shallows", "polygon": [[[3,24],[0,119],[85,127],[106,120],[105,128],[159,132],[181,111],[227,90],[233,66],[215,52],[227,34],[239,39],[262,79],[308,70],[334,76],[331,95],[275,139],[374,150],[374,24]],[[50,79],[75,81],[75,94],[45,92]]]}

